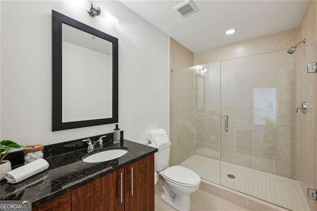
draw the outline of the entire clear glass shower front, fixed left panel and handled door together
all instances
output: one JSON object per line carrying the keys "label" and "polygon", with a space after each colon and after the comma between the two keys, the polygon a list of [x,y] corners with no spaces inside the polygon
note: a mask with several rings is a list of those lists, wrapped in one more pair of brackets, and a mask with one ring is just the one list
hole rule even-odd
{"label": "entire clear glass shower front, fixed left panel and handled door together", "polygon": [[[289,210],[314,210],[315,45],[176,69],[171,164]],[[296,108],[302,102],[306,113]]]}

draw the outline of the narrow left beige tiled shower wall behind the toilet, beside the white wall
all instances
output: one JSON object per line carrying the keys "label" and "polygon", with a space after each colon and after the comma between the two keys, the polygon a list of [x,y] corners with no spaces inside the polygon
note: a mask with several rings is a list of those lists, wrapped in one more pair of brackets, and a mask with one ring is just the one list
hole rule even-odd
{"label": "narrow left beige tiled shower wall behind the toilet, beside the white wall", "polygon": [[194,144],[194,53],[169,38],[171,164],[192,156]]}

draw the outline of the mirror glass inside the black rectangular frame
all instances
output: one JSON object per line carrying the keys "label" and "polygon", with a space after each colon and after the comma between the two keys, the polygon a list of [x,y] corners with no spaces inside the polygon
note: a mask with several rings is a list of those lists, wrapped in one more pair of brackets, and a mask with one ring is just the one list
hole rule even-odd
{"label": "mirror glass inside the black rectangular frame", "polygon": [[112,43],[62,23],[62,122],[112,118]]}

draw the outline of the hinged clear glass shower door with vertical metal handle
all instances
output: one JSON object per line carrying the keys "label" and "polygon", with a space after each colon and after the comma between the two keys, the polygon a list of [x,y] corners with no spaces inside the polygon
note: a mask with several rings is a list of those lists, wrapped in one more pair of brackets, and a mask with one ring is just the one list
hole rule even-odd
{"label": "hinged clear glass shower door with vertical metal handle", "polygon": [[[290,210],[314,210],[307,200],[307,188],[315,188],[309,60],[315,45],[221,61],[221,185]],[[302,101],[306,114],[296,113]]]}

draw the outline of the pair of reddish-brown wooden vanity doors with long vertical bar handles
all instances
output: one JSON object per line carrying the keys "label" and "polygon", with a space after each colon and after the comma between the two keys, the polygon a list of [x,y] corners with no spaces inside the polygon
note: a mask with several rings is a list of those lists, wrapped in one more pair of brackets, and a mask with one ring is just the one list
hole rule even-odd
{"label": "pair of reddish-brown wooden vanity doors with long vertical bar handles", "polygon": [[154,211],[154,197],[152,154],[73,190],[71,210]]}

